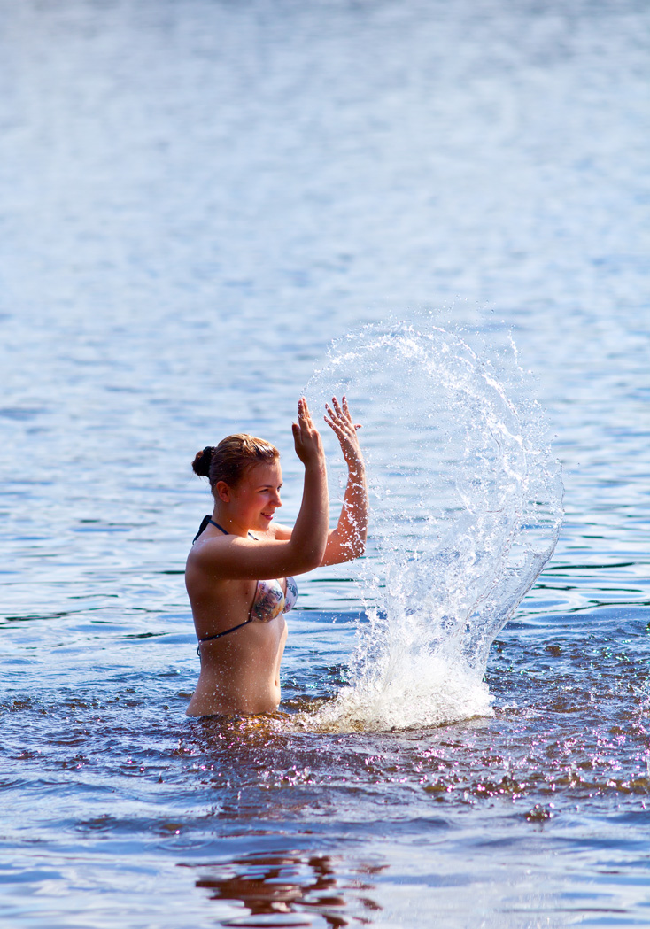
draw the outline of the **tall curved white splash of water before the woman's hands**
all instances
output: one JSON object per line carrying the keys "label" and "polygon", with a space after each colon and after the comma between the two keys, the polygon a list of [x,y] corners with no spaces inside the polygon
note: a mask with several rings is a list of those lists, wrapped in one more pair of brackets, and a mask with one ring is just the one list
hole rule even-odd
{"label": "tall curved white splash of water before the woman's hands", "polygon": [[[372,514],[356,563],[368,622],[349,684],[310,727],[491,713],[489,646],[552,555],[563,516],[559,465],[513,351],[499,371],[459,334],[402,322],[334,343],[306,387],[312,409],[345,393],[364,424]],[[333,500],[344,479],[331,471]]]}

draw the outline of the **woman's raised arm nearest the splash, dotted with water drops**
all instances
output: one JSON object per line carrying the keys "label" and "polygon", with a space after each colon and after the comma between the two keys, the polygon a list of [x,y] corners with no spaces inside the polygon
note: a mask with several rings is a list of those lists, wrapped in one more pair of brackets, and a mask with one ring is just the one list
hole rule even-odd
{"label": "woman's raised arm nearest the splash, dotted with water drops", "polygon": [[325,422],[341,443],[341,451],[347,464],[347,486],[341,515],[336,529],[331,530],[328,536],[325,555],[321,562],[323,565],[337,565],[358,558],[366,550],[368,486],[366,467],[357,438],[360,425],[352,422],[347,400],[343,397],[339,403],[332,397],[331,407],[326,404],[326,410],[328,415]]}

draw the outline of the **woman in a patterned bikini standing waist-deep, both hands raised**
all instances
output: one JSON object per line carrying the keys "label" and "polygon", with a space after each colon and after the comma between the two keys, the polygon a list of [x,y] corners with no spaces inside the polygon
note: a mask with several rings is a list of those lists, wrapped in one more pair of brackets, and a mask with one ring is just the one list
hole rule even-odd
{"label": "woman in a patterned bikini standing waist-deep, both hands raised", "polygon": [[215,509],[202,521],[185,575],[201,656],[189,716],[275,710],[287,639],[284,613],[297,595],[292,575],[363,554],[368,491],[359,426],[345,398],[340,403],[332,398],[326,410],[325,422],[341,443],[348,469],[334,530],[329,529],[325,454],[305,398],[293,423],[295,453],[305,465],[293,530],[274,520],[282,505],[282,472],[273,445],[253,436],[228,436],[194,459],[196,474],[210,480]]}

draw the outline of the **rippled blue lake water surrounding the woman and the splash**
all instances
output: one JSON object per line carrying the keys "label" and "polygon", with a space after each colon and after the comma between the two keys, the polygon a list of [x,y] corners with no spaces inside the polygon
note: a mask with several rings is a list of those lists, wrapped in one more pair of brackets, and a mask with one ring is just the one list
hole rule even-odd
{"label": "rippled blue lake water surrounding the woman and the splash", "polygon": [[[649,26],[633,0],[0,0],[3,925],[650,924]],[[417,479],[390,472],[364,565],[302,579],[280,713],[189,720],[194,453],[274,441],[291,521],[296,399],[331,339],[401,320],[472,347],[527,475],[562,465],[478,703],[418,654],[383,714],[322,722],[373,609],[398,628],[382,539],[408,568],[439,504],[400,443],[435,413],[448,467],[482,453],[488,393],[386,356],[396,390],[348,367],[350,401],[375,489]]]}

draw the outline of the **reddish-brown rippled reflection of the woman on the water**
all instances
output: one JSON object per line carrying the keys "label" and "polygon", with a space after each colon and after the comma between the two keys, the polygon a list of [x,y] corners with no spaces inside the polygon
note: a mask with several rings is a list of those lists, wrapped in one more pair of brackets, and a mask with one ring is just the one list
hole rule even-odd
{"label": "reddish-brown rippled reflection of the woman on the water", "polygon": [[311,926],[318,919],[318,925],[338,929],[372,922],[371,914],[382,908],[368,896],[374,887],[369,877],[383,867],[362,866],[358,876],[342,881],[341,864],[329,855],[290,852],[191,867],[201,871],[196,886],[210,890],[211,899],[241,902],[248,909],[222,920],[223,926]]}

